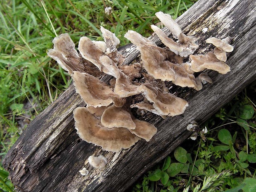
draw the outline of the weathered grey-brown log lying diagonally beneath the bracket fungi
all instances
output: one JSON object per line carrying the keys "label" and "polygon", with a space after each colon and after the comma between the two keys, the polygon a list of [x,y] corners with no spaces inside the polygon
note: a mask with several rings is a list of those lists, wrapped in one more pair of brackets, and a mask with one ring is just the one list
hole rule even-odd
{"label": "weathered grey-brown log lying diagonally beneath the bracket fungi", "polygon": [[[154,164],[180,145],[190,133],[190,121],[206,121],[221,106],[256,78],[256,3],[254,0],[199,0],[176,21],[185,34],[199,38],[198,52],[209,48],[206,38],[231,36],[234,51],[228,54],[231,71],[225,75],[209,72],[213,84],[197,92],[174,86],[171,92],[189,102],[180,116],[161,117],[148,113],[144,120],[158,128],[149,142],[143,140],[119,153],[105,152],[81,141],[74,129],[73,109],[85,104],[71,85],[53,104],[38,115],[9,150],[3,166],[17,191],[107,192],[124,191]],[[208,28],[206,33],[203,28]],[[152,36],[160,42],[156,36]],[[201,46],[204,45],[204,46]],[[138,57],[132,49],[126,62]],[[127,47],[126,47],[127,48]],[[104,170],[88,165],[88,156],[104,155]],[[78,171],[87,168],[88,176]]]}

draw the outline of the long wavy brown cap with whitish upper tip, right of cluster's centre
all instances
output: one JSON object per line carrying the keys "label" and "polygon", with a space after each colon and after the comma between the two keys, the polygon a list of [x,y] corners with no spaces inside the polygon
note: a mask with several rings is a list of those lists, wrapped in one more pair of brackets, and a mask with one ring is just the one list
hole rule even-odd
{"label": "long wavy brown cap with whitish upper tip, right of cluster's centre", "polygon": [[181,87],[194,87],[196,85],[193,75],[187,73],[180,64],[167,61],[168,54],[154,43],[147,45],[149,40],[135,31],[128,31],[125,37],[130,40],[141,53],[143,67],[156,79],[172,81]]}

